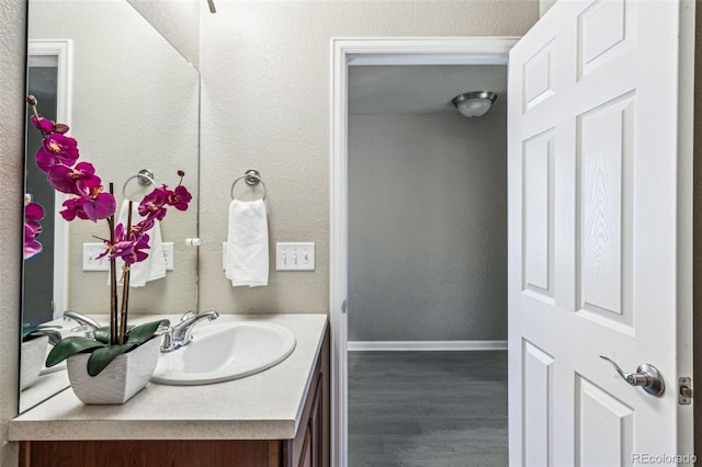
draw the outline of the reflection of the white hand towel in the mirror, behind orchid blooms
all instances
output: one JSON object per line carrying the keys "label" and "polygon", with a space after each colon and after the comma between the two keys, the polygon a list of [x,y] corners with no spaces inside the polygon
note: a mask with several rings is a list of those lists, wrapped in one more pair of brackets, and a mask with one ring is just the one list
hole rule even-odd
{"label": "reflection of the white hand towel in the mirror, behind orchid blooms", "polygon": [[[127,212],[129,202],[122,202],[120,208],[120,217],[117,223],[127,225]],[[138,203],[132,204],[132,224],[136,224],[144,219],[138,213]],[[138,263],[132,264],[129,269],[129,287],[144,287],[147,282],[166,277],[166,260],[163,259],[163,239],[161,238],[161,225],[158,220],[154,223],[154,227],[147,231],[149,236],[149,249],[145,250],[148,258]],[[116,261],[117,282],[122,284],[122,266],[124,262],[120,259]],[[109,281],[109,278],[107,278]]]}

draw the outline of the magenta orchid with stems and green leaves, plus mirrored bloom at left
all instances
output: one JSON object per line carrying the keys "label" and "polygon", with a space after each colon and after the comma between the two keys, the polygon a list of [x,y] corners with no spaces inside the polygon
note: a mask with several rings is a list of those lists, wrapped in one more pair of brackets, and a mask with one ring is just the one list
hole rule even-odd
{"label": "magenta orchid with stems and green leaves, plus mirrored bloom at left", "polygon": [[[168,320],[157,320],[134,328],[127,326],[129,270],[133,264],[148,258],[148,232],[155,221],[162,220],[170,207],[188,209],[192,196],[182,184],[184,173],[179,171],[180,182],[176,189],[170,190],[167,185],[161,185],[144,196],[138,205],[138,214],[141,217],[138,221],[132,218],[133,206],[129,201],[126,224],[115,224],[116,202],[113,184],[110,183],[109,190],[105,191],[102,179],[95,174],[94,166],[79,161],[78,143],[66,135],[69,129],[67,125],[39,115],[34,96],[27,96],[26,102],[32,109],[32,124],[43,135],[43,144],[35,157],[36,164],[46,172],[47,181],[57,192],[68,195],[59,214],[67,221],[105,221],[107,227],[109,235],[98,238],[105,244],[105,250],[99,258],[106,257],[110,261],[110,326],[99,329],[94,337],[68,337],[60,340],[46,358],[46,366],[53,366],[70,356],[89,354],[87,372],[94,377],[118,356],[152,341],[159,328],[169,324]],[[25,201],[25,205],[24,257],[29,258],[42,248],[36,237],[41,232],[38,220],[43,214],[36,203]],[[117,259],[122,260],[121,271],[117,271]],[[121,294],[117,275],[122,283]],[[157,358],[158,354],[156,358],[151,358],[154,367]],[[68,363],[70,376],[70,360]],[[150,377],[150,374],[148,376]],[[144,385],[147,381],[148,377]]]}

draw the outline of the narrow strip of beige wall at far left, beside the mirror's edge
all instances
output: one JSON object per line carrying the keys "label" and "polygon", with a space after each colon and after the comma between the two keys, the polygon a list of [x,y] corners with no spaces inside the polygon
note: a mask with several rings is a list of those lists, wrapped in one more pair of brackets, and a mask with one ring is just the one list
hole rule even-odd
{"label": "narrow strip of beige wall at far left, beside the mirror's edge", "polygon": [[25,3],[0,1],[0,466],[15,466],[8,420],[18,413]]}

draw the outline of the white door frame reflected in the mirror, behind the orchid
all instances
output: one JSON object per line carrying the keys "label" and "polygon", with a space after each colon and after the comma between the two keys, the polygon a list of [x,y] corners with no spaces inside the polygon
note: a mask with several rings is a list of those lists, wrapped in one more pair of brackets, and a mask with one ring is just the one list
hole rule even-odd
{"label": "white door frame reflected in the mirror, behind the orchid", "polygon": [[[56,61],[56,121],[71,126],[73,91],[73,41],[30,39],[27,45],[27,68],[42,57]],[[29,156],[29,155],[27,155]],[[67,196],[56,192],[54,212],[54,318],[60,318],[68,309],[68,223],[58,212],[64,208]]]}

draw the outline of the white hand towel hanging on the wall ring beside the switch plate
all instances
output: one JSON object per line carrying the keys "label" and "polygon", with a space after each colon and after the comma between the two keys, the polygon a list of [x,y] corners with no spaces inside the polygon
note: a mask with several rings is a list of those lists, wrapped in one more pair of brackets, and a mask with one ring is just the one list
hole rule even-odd
{"label": "white hand towel hanging on the wall ring beside the switch plate", "polygon": [[226,277],[233,286],[268,285],[268,218],[263,200],[229,204]]}

